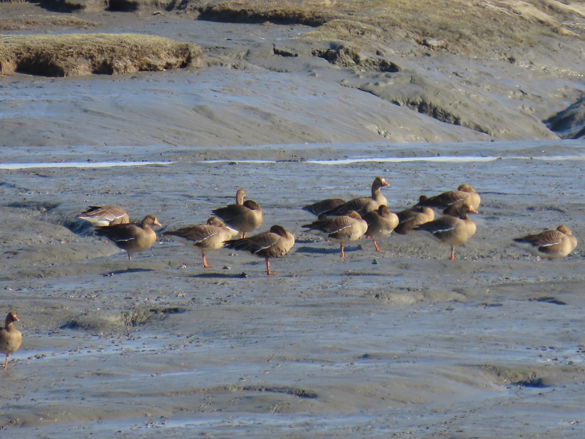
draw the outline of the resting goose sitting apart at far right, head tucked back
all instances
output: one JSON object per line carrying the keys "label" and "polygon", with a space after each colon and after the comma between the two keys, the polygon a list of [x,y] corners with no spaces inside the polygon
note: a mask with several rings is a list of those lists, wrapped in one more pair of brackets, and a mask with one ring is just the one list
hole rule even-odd
{"label": "resting goose sitting apart at far right, head tucked back", "polygon": [[564,224],[559,225],[556,230],[515,238],[514,242],[533,255],[548,259],[564,258],[577,246],[577,238]]}

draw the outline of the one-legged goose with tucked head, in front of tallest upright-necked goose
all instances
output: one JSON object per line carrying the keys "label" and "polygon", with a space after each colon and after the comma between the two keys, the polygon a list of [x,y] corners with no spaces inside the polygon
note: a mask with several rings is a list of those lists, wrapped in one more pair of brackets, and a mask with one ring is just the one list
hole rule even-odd
{"label": "one-legged goose with tucked head, in front of tallest upright-necked goose", "polygon": [[302,228],[314,231],[318,235],[339,242],[341,257],[345,258],[344,244],[362,239],[367,231],[367,223],[356,211],[349,211],[341,217],[322,218],[305,224]]}

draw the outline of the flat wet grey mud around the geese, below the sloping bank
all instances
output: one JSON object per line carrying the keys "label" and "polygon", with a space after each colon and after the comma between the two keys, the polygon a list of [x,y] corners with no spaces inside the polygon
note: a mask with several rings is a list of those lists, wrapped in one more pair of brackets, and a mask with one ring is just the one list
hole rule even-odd
{"label": "flat wet grey mud around the geese, below the sloping bank", "polygon": [[[583,435],[583,252],[536,260],[510,245],[562,222],[583,236],[579,142],[258,146],[222,160],[202,149],[122,146],[96,166],[1,171],[0,289],[24,336],[2,371],[12,437]],[[55,146],[34,160],[87,154]],[[156,156],[171,163],[99,166]],[[342,260],[301,230],[302,205],[366,195],[376,175],[393,210],[476,187],[478,230],[455,261],[418,235],[382,240],[383,253],[363,240]],[[129,262],[63,227],[88,204],[197,224],[238,187],[262,205],[263,230],[297,237],[274,276],[230,251],[205,270],[166,239]]]}

